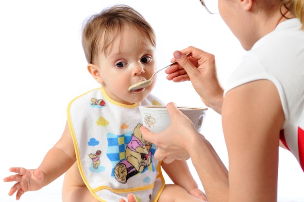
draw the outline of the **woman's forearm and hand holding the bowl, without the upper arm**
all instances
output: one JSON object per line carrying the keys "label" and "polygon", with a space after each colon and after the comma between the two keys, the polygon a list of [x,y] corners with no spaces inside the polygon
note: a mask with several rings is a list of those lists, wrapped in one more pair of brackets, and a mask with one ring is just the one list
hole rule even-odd
{"label": "woman's forearm and hand holding the bowl, without the upper arm", "polygon": [[228,171],[220,157],[204,136],[195,130],[193,123],[172,102],[167,105],[167,109],[171,124],[165,131],[154,134],[145,127],[140,128],[144,139],[157,145],[155,159],[170,163],[174,159],[186,160],[191,157],[208,201],[212,202],[212,196],[216,196],[220,201],[227,200]]}

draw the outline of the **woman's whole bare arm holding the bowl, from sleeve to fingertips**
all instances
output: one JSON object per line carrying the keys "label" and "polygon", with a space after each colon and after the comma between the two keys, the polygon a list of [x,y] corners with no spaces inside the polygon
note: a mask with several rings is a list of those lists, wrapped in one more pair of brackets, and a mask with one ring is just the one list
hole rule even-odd
{"label": "woman's whole bare arm holding the bowl, from sleeve to fingertips", "polygon": [[191,157],[209,202],[276,201],[279,132],[284,122],[273,83],[259,80],[226,94],[223,132],[228,171],[212,145],[196,132],[173,103],[167,105],[171,124],[153,134],[141,127],[144,139],[157,145],[155,159],[172,162]]}

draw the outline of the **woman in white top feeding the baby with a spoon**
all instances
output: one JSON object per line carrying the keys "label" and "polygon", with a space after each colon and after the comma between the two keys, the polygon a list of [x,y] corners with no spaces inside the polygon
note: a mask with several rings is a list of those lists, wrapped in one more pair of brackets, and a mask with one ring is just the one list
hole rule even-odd
{"label": "woman in white top feeding the baby with a spoon", "polygon": [[179,65],[166,72],[174,82],[190,80],[222,115],[229,172],[173,103],[168,129],[141,132],[158,146],[156,159],[191,158],[209,202],[276,202],[280,140],[304,169],[304,0],[219,0],[219,12],[248,50],[225,90],[214,56],[194,47],[175,51]]}

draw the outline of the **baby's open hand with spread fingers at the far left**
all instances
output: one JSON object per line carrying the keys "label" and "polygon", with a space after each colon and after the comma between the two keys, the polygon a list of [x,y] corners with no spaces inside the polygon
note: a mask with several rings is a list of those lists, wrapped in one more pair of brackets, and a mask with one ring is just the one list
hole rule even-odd
{"label": "baby's open hand with spread fingers at the far left", "polygon": [[10,168],[11,172],[17,174],[8,176],[3,179],[4,182],[17,182],[12,186],[8,195],[12,196],[16,191],[16,200],[27,191],[34,191],[42,188],[45,184],[44,173],[38,169]]}

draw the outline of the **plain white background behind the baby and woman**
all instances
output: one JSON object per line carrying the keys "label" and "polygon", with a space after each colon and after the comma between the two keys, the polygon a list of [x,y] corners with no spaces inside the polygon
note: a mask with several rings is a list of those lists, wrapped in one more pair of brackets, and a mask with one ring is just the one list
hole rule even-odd
{"label": "plain white background behind the baby and woman", "polygon": [[[37,168],[62,135],[68,102],[99,87],[86,70],[81,27],[86,17],[116,3],[134,7],[152,25],[159,68],[169,64],[174,50],[195,46],[216,55],[224,85],[244,53],[220,15],[208,14],[199,0],[1,1],[0,178],[11,174],[10,167]],[[166,103],[204,106],[189,82],[175,84],[165,77],[159,73],[154,95]],[[201,132],[227,166],[220,115],[210,109]],[[63,176],[25,193],[21,202],[60,202],[62,181]],[[295,158],[280,149],[278,200],[304,202],[303,182]],[[1,202],[14,201],[15,196],[7,196],[12,185],[0,181]]]}

